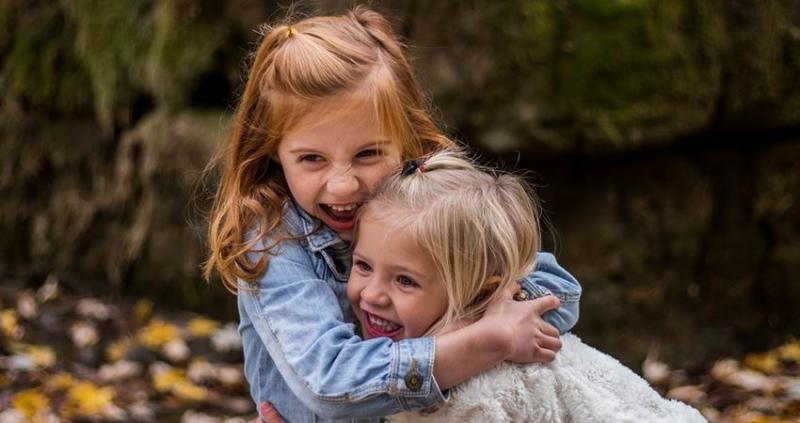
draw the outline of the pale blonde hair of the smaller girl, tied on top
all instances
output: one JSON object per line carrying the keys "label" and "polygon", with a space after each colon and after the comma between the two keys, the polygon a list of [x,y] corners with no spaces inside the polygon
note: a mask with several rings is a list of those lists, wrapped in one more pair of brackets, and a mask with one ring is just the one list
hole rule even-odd
{"label": "pale blonde hair of the smaller girl, tied on top", "polygon": [[410,230],[422,253],[436,263],[448,308],[432,333],[454,320],[479,317],[533,270],[539,213],[521,177],[479,168],[454,151],[418,163],[420,170],[409,174],[407,167],[389,176],[360,219]]}

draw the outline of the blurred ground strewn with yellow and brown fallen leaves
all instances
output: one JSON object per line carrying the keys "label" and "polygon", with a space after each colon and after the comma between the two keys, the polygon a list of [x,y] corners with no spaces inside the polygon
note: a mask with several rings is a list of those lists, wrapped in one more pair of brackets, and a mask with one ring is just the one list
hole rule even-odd
{"label": "blurred ground strewn with yellow and brown fallen leaves", "polygon": [[[0,289],[0,422],[255,419],[236,323],[63,291]],[[635,370],[710,422],[800,422],[800,340],[694,374]]]}

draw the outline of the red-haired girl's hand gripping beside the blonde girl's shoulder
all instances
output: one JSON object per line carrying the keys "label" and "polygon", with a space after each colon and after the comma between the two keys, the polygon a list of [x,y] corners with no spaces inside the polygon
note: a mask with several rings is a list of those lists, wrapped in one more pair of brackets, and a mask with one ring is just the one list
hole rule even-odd
{"label": "red-haired girl's hand gripping beside the blonde girl's shoulder", "polygon": [[519,286],[512,288],[486,310],[479,324],[485,324],[507,346],[506,361],[549,363],[561,349],[558,330],[542,315],[559,307],[558,298],[548,295],[533,301],[514,301]]}

